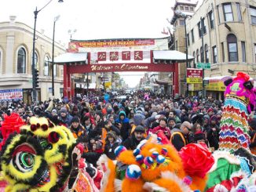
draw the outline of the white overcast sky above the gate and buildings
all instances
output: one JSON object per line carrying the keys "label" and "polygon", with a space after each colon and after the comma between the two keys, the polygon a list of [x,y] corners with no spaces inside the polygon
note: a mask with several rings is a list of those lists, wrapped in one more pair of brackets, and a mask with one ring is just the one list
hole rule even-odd
{"label": "white overcast sky above the gate and buildings", "polygon": [[[202,1],[202,0],[201,0]],[[201,2],[199,0],[199,2]],[[34,11],[41,9],[48,0],[0,0],[0,22],[15,15],[16,21],[34,26]],[[56,23],[55,39],[68,45],[68,30],[76,30],[73,39],[104,38],[163,38],[163,27],[170,27],[174,0],[53,0],[38,13],[37,31],[43,29],[52,38],[53,19]],[[31,39],[32,43],[32,39]],[[130,77],[124,77],[125,81]],[[135,82],[139,77],[136,76]],[[131,84],[134,84],[131,83]]]}

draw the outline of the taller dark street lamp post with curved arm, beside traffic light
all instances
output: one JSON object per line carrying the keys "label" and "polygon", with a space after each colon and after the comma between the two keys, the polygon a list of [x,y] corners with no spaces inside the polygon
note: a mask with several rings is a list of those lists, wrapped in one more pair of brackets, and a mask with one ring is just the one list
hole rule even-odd
{"label": "taller dark street lamp post with curved arm, beside traffic light", "polygon": [[[42,7],[42,9],[44,9],[52,1],[53,0],[50,0],[46,5],[44,5]],[[58,0],[58,2],[63,2],[63,0]],[[35,28],[36,28],[36,20],[37,20],[37,17],[38,17],[38,13],[40,11],[42,11],[42,9],[38,10],[38,8],[35,7],[35,11],[34,11],[35,21],[34,21],[34,31],[33,31],[33,48],[32,48],[33,50],[32,50],[32,67],[31,67],[31,73],[32,73],[32,97],[33,97],[33,101],[37,100],[36,87],[35,87]]]}

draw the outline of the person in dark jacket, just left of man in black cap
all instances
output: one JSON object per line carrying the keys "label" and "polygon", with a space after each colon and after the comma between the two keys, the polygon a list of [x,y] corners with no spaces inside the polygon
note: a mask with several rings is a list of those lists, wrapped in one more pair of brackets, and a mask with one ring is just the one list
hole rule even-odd
{"label": "person in dark jacket, just left of man in black cap", "polygon": [[108,132],[106,138],[106,144],[104,147],[104,154],[108,156],[108,158],[115,160],[115,148],[119,147],[119,143],[116,141],[115,132]]}

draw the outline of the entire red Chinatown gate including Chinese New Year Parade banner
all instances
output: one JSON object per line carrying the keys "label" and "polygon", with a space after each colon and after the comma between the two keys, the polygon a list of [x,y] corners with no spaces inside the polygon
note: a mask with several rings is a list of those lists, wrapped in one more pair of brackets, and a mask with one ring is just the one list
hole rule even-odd
{"label": "entire red Chinatown gate including Chinese New Year Parade banner", "polygon": [[[54,58],[54,63],[64,65],[64,97],[71,99],[75,95],[71,74],[104,72],[170,72],[173,73],[173,94],[179,93],[178,63],[185,62],[186,55],[154,50],[153,47],[159,49],[158,44],[165,49],[163,44],[168,45],[167,39],[71,40],[68,53]],[[192,59],[188,56],[188,60]]]}

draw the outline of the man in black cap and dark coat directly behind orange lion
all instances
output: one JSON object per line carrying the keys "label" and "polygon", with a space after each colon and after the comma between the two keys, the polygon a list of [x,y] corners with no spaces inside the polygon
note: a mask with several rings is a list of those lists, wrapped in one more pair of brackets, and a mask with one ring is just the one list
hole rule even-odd
{"label": "man in black cap and dark coat directly behind orange lion", "polygon": [[134,132],[130,137],[123,141],[122,145],[126,147],[127,150],[135,150],[137,145],[144,139],[145,129],[141,125],[137,125]]}

